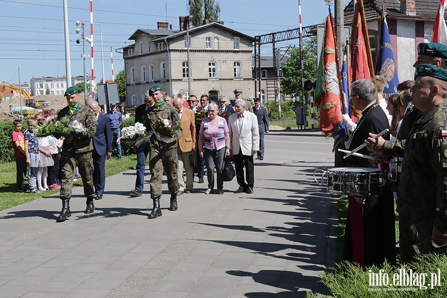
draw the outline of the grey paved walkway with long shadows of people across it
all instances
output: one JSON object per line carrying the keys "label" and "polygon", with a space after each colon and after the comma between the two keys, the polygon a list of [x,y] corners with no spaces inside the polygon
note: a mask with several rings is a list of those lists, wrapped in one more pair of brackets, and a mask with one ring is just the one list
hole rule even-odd
{"label": "grey paved walkway with long shadows of people across it", "polygon": [[106,179],[91,215],[83,213],[81,187],[64,223],[56,223],[58,196],[0,212],[0,297],[328,294],[317,275],[334,259],[336,206],[312,172],[332,166],[332,140],[290,134],[266,136],[252,195],[233,194],[236,179],[225,182],[224,195],[205,195],[207,184],[195,183],[195,193],[180,196],[179,210],[170,212],[164,183],[163,215],[149,220],[149,184],[142,197],[129,196],[131,170]]}

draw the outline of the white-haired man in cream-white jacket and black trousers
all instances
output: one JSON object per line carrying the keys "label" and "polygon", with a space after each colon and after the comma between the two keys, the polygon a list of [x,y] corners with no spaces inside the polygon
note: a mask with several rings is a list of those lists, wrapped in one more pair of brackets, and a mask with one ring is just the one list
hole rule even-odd
{"label": "white-haired man in cream-white jacket and black trousers", "polygon": [[[228,118],[230,155],[234,159],[237,184],[236,194],[253,193],[254,164],[253,154],[259,150],[259,127],[256,115],[245,111],[245,100],[236,99],[235,114]],[[244,166],[247,182],[244,179]]]}

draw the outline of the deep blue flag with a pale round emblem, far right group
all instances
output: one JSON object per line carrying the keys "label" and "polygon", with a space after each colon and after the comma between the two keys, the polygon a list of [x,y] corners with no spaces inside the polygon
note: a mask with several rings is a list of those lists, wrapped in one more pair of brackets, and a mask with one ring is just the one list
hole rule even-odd
{"label": "deep blue flag with a pale round emblem, far right group", "polygon": [[388,25],[386,18],[383,17],[382,32],[380,34],[380,51],[376,73],[385,79],[385,89],[383,97],[388,98],[391,94],[397,93],[399,77],[397,76],[396,65],[394,63],[393,48],[389,38]]}

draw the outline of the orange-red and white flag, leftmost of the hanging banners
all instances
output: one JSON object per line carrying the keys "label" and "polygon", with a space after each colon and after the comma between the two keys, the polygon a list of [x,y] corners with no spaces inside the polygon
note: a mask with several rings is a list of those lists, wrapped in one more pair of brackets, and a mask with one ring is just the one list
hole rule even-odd
{"label": "orange-red and white flag, leftmost of the hanging banners", "polygon": [[332,18],[328,16],[324,29],[323,55],[320,56],[321,63],[316,84],[318,94],[315,94],[317,101],[320,101],[320,128],[326,136],[334,132],[343,119],[340,107],[343,95],[340,87],[336,47]]}

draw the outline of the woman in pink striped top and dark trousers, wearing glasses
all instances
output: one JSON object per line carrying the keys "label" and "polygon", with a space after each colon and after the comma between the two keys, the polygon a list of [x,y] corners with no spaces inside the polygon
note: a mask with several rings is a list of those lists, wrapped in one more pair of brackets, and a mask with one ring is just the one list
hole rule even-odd
{"label": "woman in pink striped top and dark trousers, wearing glasses", "polygon": [[[224,118],[219,117],[219,107],[215,103],[208,105],[208,118],[202,120],[199,133],[199,155],[205,159],[207,167],[208,189],[205,194],[214,191],[214,169],[217,172],[217,188],[220,195],[224,194],[224,157],[229,155],[228,125]],[[203,151],[202,151],[202,148]]]}

